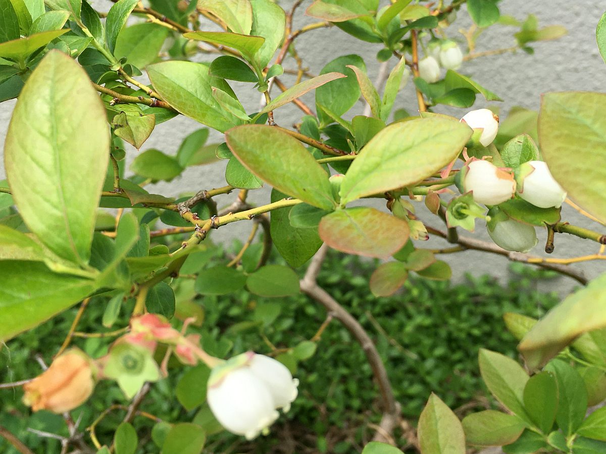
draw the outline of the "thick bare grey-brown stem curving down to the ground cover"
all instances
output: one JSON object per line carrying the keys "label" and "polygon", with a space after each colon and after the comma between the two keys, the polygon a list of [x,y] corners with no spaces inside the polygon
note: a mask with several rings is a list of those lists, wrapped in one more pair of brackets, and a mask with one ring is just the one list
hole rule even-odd
{"label": "thick bare grey-brown stem curving down to the ground cover", "polygon": [[[311,298],[322,304],[330,315],[338,319],[345,328],[354,336],[356,341],[364,350],[366,359],[373,370],[373,375],[381,391],[382,407],[383,407],[383,418],[381,420],[381,430],[378,431],[378,436],[381,438],[387,438],[384,432],[389,434],[393,431],[394,427],[397,426],[400,419],[400,406],[393,396],[393,389],[387,376],[387,370],[381,360],[381,356],[377,351],[375,344],[373,343],[368,333],[364,330],[364,327],[349,313],[347,310],[340,305],[335,298],[330,296],[326,290],[322,289],[316,281],[318,273],[322,267],[322,262],[326,256],[328,246],[323,244],[316,255],[311,259],[305,277],[301,279],[300,285],[302,292],[306,293]],[[377,438],[377,437],[375,437]]]}

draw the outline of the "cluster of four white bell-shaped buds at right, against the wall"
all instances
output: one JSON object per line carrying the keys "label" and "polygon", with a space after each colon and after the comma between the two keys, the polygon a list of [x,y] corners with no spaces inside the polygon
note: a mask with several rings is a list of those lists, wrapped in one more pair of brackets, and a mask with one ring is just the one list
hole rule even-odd
{"label": "cluster of four white bell-shaped buds at right, against the wall", "polygon": [[[486,108],[468,112],[461,122],[482,131],[479,142],[484,147],[494,141],[499,129],[498,116]],[[489,207],[517,194],[535,207],[559,208],[567,195],[543,161],[524,162],[512,170],[499,169],[492,162],[472,158],[461,170],[461,177],[462,192],[471,192],[474,202]],[[528,252],[537,243],[533,225],[511,219],[502,212],[488,225],[488,235],[497,245],[511,251]]]}

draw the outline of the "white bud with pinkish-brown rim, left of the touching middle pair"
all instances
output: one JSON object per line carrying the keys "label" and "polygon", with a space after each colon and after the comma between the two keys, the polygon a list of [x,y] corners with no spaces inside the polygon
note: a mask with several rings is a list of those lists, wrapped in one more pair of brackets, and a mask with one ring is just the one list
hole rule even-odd
{"label": "white bud with pinkish-brown rim, left of the touching middle pair", "polygon": [[513,174],[498,169],[492,162],[476,159],[465,165],[459,173],[461,192],[471,191],[476,203],[498,205],[511,199],[516,192]]}

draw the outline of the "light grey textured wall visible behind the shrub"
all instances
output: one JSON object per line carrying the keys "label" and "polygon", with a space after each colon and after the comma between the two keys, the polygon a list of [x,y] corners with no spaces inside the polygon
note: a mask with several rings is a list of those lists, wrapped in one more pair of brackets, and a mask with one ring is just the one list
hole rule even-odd
{"label": "light grey textured wall visible behind the shrub", "polygon": [[[385,3],[385,1],[383,1]],[[292,0],[282,0],[279,2],[286,10],[290,8]],[[310,0],[305,0],[303,6],[307,7]],[[561,24],[568,28],[568,35],[558,41],[547,41],[533,44],[536,52],[534,55],[527,55],[524,52],[508,53],[501,56],[488,56],[465,63],[461,72],[473,76],[479,83],[498,93],[505,102],[498,104],[501,113],[506,114],[514,105],[521,105],[527,108],[537,109],[541,93],[562,90],[588,90],[603,91],[606,86],[606,65],[602,61],[595,43],[595,26],[599,16],[606,8],[605,1],[596,0],[550,0],[548,2],[529,2],[527,0],[502,0],[500,3],[502,14],[511,15],[519,20],[524,20],[529,13],[538,16],[540,25]],[[93,6],[98,10],[107,11],[110,2],[107,0],[93,1]],[[299,10],[298,18],[295,21],[295,28],[300,27],[306,22],[314,19],[306,18],[301,13],[304,8]],[[450,38],[459,42],[464,42],[462,36],[458,33],[459,28],[468,27],[470,20],[464,10],[459,12],[459,18],[448,30]],[[489,28],[478,40],[478,51],[491,50],[497,48],[510,47],[515,44],[513,33],[516,31],[513,27],[494,25]],[[372,79],[376,78],[379,69],[379,63],[375,59],[376,52],[381,46],[376,44],[363,43],[346,35],[344,32],[336,29],[321,29],[302,35],[297,40],[297,49],[299,55],[304,59],[305,65],[311,73],[318,73],[322,66],[340,55],[358,53],[367,64],[368,73]],[[395,59],[390,62],[395,64]],[[284,66],[286,68],[295,68],[293,59],[286,59]],[[284,76],[284,81],[291,83],[292,80]],[[403,90],[396,101],[396,108],[404,107],[409,112],[416,111],[416,99],[412,84]],[[254,112],[258,109],[260,94],[254,89],[245,89],[244,85],[235,84],[234,88],[238,93],[242,103]],[[275,93],[275,92],[274,92]],[[310,105],[313,105],[313,95],[307,95],[304,98]],[[485,107],[487,103],[478,98],[474,108]],[[8,121],[15,105],[15,101],[7,101],[0,104],[0,144],[4,143],[4,136],[8,128]],[[364,104],[359,104],[351,110],[350,115],[359,115],[364,110]],[[439,109],[438,109],[439,110]],[[440,112],[450,113],[451,115],[462,116],[463,110],[442,108]],[[297,122],[301,117],[301,112],[287,105],[276,112],[276,122],[288,127]],[[144,144],[141,151],[148,148],[157,148],[166,153],[175,153],[182,138],[188,133],[200,127],[195,121],[178,117],[164,124],[158,125],[151,135],[150,139]],[[211,136],[210,141],[220,142],[219,135]],[[209,142],[210,142],[209,141]],[[135,149],[130,150],[128,162],[138,153]],[[199,189],[211,189],[225,184],[224,180],[225,161],[216,164],[193,167],[187,169],[181,177],[170,183],[156,184],[148,187],[150,192],[161,193],[167,196],[176,196],[181,192],[191,192]],[[4,167],[0,162],[0,179],[4,179]],[[251,201],[255,203],[266,203],[269,199],[267,190],[256,190],[251,193]],[[227,198],[225,204],[228,204]],[[431,218],[429,218],[431,219]],[[564,207],[564,219],[571,223],[582,222],[589,228],[598,229],[599,225],[579,219],[574,210]],[[433,224],[436,222],[431,219]],[[485,234],[484,225],[478,222],[477,232],[473,235],[479,235],[480,238],[488,239]],[[233,236],[245,236],[248,233],[248,226],[244,222],[230,224],[228,227],[213,232],[215,241],[225,241]],[[469,234],[467,234],[469,235]],[[576,238],[565,238],[560,235],[556,238],[556,252],[553,256],[573,256],[584,253],[594,253],[597,250],[596,244],[589,241],[583,241]],[[540,254],[545,240],[545,233],[539,235],[539,245],[533,251]],[[442,242],[431,240],[422,246],[439,247]],[[487,253],[465,252],[453,256],[448,256],[448,260],[453,265],[454,277],[462,278],[464,273],[471,272],[476,275],[490,272],[495,276],[507,278],[507,260],[499,256],[492,256]],[[580,268],[589,277],[598,275],[606,267],[604,262],[587,262],[581,264]],[[558,278],[548,283],[550,290],[560,290],[567,292],[575,285],[575,282],[568,278]]]}

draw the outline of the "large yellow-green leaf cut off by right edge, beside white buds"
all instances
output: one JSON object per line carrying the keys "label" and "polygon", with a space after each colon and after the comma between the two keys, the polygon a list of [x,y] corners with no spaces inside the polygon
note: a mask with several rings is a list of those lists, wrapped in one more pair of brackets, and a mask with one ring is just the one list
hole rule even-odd
{"label": "large yellow-green leaf cut off by right edge, beside white buds", "polygon": [[[606,221],[606,94],[547,93],[541,101],[541,152],[568,196]],[[591,182],[591,184],[588,184]]]}

